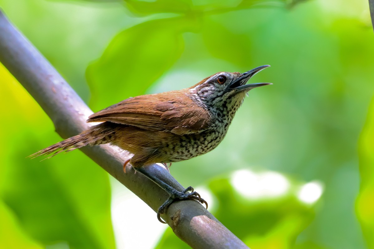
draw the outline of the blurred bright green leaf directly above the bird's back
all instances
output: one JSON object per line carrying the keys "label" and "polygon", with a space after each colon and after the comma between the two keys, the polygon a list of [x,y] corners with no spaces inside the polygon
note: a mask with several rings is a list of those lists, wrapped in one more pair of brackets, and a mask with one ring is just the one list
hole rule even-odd
{"label": "blurred bright green leaf directly above the bird's back", "polygon": [[102,109],[128,97],[144,94],[183,51],[181,32],[188,19],[144,22],[120,32],[86,76],[93,109]]}

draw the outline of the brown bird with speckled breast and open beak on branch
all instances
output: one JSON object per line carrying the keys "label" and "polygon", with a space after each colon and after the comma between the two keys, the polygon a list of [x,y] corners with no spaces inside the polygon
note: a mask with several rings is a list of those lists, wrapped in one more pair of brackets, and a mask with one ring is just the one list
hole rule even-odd
{"label": "brown bird with speckled breast and open beak on branch", "polygon": [[86,146],[111,143],[134,154],[130,164],[169,194],[157,217],[175,199],[206,203],[188,187],[178,192],[144,167],[178,162],[205,154],[223,140],[237,109],[249,90],[271,83],[246,82],[269,65],[248,72],[218,72],[182,90],[125,99],[89,116],[87,122],[102,122],[30,157],[50,157]]}

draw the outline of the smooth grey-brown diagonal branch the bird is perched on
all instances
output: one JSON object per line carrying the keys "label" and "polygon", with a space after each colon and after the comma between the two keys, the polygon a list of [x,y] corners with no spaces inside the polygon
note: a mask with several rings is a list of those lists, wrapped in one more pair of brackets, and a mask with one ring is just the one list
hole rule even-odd
{"label": "smooth grey-brown diagonal branch the bird is perched on", "polygon": [[[0,61],[52,119],[61,137],[74,136],[88,127],[85,121],[92,111],[56,69],[10,24],[1,10]],[[128,158],[122,157],[114,147],[104,144],[83,147],[82,151],[154,211],[168,198],[164,190],[143,175],[135,174],[131,167],[127,167],[124,173],[122,165]],[[155,164],[147,170],[175,189],[184,190],[166,169]],[[192,248],[248,248],[194,200],[173,203],[162,217]]]}

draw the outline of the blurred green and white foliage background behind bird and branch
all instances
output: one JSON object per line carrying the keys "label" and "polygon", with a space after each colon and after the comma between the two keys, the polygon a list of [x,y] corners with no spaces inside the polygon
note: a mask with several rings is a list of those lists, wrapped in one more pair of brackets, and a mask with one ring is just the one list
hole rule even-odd
{"label": "blurred green and white foliage background behind bird and branch", "polygon": [[[0,0],[93,111],[269,64],[214,151],[171,173],[251,248],[374,248],[366,0]],[[0,51],[1,53],[1,51]],[[0,64],[0,248],[188,248],[61,138]],[[370,107],[371,106],[371,107]]]}

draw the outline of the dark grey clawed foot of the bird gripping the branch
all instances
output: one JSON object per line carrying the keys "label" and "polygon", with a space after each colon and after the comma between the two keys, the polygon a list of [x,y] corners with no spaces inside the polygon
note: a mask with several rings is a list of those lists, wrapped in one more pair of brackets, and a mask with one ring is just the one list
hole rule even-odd
{"label": "dark grey clawed foot of the bird gripping the branch", "polygon": [[157,210],[157,219],[161,222],[166,224],[165,221],[163,221],[160,217],[161,214],[165,213],[165,208],[167,208],[171,203],[173,203],[175,200],[184,200],[184,199],[193,199],[197,200],[200,203],[204,203],[206,206],[206,209],[208,209],[208,202],[201,198],[200,194],[193,191],[193,187],[188,187],[183,192],[179,192],[176,189],[172,189],[169,193],[169,198],[159,207]]}

